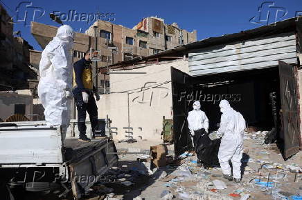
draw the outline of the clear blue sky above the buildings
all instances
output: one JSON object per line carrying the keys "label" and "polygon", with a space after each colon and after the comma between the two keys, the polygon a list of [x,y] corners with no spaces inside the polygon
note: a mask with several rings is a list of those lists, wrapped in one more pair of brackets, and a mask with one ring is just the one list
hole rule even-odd
{"label": "clear blue sky above the buildings", "polygon": [[[229,1],[27,1],[28,3],[21,3],[26,1],[15,0],[0,0],[0,3],[5,4],[6,10],[11,16],[19,19],[15,24],[14,30],[21,31],[21,37],[24,37],[31,46],[36,50],[42,50],[30,34],[30,27],[25,26],[21,22],[24,13],[27,13],[26,23],[33,19],[33,10],[45,10],[45,14],[39,17],[42,12],[37,11],[35,21],[39,23],[46,23],[52,26],[60,26],[51,21],[48,17],[50,12],[60,11],[60,13],[68,13],[69,10],[75,10],[78,13],[114,13],[115,21],[113,23],[121,24],[125,27],[132,28],[143,17],[155,16],[165,19],[165,23],[177,22],[180,28],[186,30],[197,30],[197,39],[201,40],[207,37],[220,36],[222,34],[229,34],[233,32],[240,32],[256,28],[258,26],[266,25],[266,14],[270,13],[269,21],[274,22],[277,16],[278,20],[294,17],[298,12],[302,15],[302,0],[276,0],[276,1],[243,1],[243,0],[229,0]],[[252,17],[258,17],[258,7],[265,3],[261,8],[262,21],[260,23],[251,23]],[[16,8],[19,7],[19,12]],[[30,5],[31,6],[27,6]],[[274,4],[274,5],[273,5]],[[26,7],[27,6],[27,7]],[[35,9],[33,8],[35,7]],[[276,10],[279,10],[276,12]],[[299,12],[300,11],[300,12]],[[285,16],[284,13],[287,12]],[[17,15],[19,13],[19,15]],[[276,15],[277,13],[277,15]],[[256,18],[258,19],[258,18]],[[302,18],[301,18],[302,20]],[[254,22],[259,22],[256,20]],[[66,24],[73,27],[75,31],[85,32],[92,23],[87,21],[66,21]]]}

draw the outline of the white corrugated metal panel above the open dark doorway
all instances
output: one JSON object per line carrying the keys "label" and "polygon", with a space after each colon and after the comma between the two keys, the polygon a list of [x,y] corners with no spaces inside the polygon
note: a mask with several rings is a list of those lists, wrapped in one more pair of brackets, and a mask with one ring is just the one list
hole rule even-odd
{"label": "white corrugated metal panel above the open dark doorway", "polygon": [[296,63],[294,32],[190,50],[188,63],[190,74],[196,76],[272,68],[279,60]]}

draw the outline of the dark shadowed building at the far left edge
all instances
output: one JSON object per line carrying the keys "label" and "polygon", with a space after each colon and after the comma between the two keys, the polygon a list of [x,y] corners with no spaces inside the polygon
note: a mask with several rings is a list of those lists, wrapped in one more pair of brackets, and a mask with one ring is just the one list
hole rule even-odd
{"label": "dark shadowed building at the far left edge", "polygon": [[28,66],[29,50],[33,47],[20,37],[20,32],[12,31],[11,18],[0,5],[0,90],[24,89],[28,87],[28,79],[37,78],[37,73]]}

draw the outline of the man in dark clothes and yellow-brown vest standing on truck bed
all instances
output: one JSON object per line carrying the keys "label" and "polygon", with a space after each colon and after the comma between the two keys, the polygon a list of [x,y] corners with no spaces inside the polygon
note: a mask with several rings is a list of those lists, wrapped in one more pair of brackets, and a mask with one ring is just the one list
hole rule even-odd
{"label": "man in dark clothes and yellow-brown vest standing on truck bed", "polygon": [[[89,114],[93,138],[96,126],[98,126],[98,107],[96,106],[96,101],[100,100],[100,95],[96,92],[93,83],[92,61],[90,60],[91,52],[94,53],[94,50],[87,50],[85,57],[76,61],[73,65],[73,97],[78,110],[79,141],[90,141],[86,136],[86,111]],[[96,96],[96,101],[94,95]]]}

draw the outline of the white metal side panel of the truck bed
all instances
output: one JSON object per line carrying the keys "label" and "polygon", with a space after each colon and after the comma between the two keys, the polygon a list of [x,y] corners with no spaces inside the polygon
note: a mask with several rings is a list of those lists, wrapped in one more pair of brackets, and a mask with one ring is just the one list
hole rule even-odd
{"label": "white metal side panel of the truck bed", "polygon": [[0,128],[0,164],[62,163],[59,131],[33,125]]}

